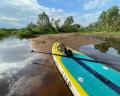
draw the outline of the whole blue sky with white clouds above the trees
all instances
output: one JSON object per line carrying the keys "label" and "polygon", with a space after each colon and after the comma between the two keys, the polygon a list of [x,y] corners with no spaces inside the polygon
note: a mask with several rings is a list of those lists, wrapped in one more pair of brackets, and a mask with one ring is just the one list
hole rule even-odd
{"label": "whole blue sky with white clouds above the trees", "polygon": [[101,12],[120,0],[0,0],[0,28],[25,28],[37,23],[38,14],[45,12],[51,18],[64,20],[73,16],[74,24],[88,26],[96,22]]}

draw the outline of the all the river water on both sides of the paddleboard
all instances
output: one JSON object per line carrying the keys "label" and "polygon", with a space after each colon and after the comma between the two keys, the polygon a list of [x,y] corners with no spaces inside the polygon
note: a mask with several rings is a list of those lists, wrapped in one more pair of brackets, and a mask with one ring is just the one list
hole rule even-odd
{"label": "all the river water on both sides of the paddleboard", "polygon": [[[119,71],[120,40],[104,41],[79,47],[80,52]],[[72,96],[55,65],[31,50],[28,39],[0,41],[0,96]]]}

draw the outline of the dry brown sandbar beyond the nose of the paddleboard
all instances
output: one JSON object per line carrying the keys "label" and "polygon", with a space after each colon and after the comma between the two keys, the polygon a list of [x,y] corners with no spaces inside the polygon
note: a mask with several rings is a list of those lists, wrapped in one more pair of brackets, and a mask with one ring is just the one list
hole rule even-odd
{"label": "dry brown sandbar beyond the nose of the paddleboard", "polygon": [[68,33],[68,34],[48,34],[40,35],[31,39],[31,46],[37,51],[51,52],[54,42],[64,43],[65,45],[78,50],[79,46],[87,44],[97,44],[101,41],[94,38],[85,37],[84,35]]}

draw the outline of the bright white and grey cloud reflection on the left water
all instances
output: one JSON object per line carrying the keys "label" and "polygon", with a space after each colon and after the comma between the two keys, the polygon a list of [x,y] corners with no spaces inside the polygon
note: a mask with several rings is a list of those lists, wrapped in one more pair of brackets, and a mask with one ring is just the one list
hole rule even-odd
{"label": "bright white and grey cloud reflection on the left water", "polygon": [[28,40],[20,41],[15,37],[5,39],[0,42],[0,78],[11,77],[34,58],[30,54]]}

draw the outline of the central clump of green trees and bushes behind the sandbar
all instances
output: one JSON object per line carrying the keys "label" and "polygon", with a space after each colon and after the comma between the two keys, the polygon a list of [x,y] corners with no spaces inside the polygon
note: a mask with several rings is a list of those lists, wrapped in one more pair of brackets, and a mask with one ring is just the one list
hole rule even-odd
{"label": "central clump of green trees and bushes behind the sandbar", "polygon": [[59,32],[77,32],[80,28],[80,24],[73,24],[74,20],[72,16],[68,16],[64,24],[60,26],[60,19],[55,20],[52,18],[50,21],[48,15],[43,12],[38,15],[37,25],[32,22],[26,26],[26,29],[34,33],[59,33]]}

